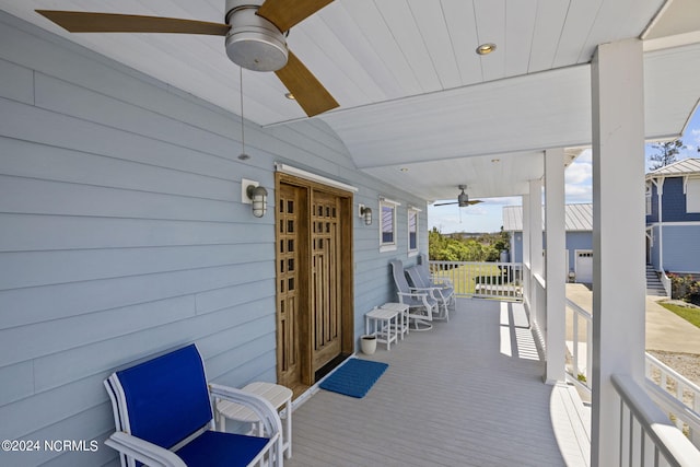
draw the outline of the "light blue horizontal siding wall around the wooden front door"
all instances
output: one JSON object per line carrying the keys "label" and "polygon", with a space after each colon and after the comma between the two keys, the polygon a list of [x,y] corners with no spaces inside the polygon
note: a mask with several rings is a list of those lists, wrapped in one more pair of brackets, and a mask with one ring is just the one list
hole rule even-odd
{"label": "light blue horizontal siding wall around the wooden front door", "polygon": [[[0,77],[0,439],[104,440],[102,381],[191,341],[211,380],[275,381],[273,207],[256,219],[240,199],[249,178],[273,202],[275,162],[358,187],[354,209],[402,202],[389,254],[354,217],[355,335],[394,296],[387,264],[410,262],[406,207],[422,201],[355,171],[319,120],[246,124],[242,163],[237,117],[2,12]],[[106,463],[103,445],[0,452],[2,466]]]}

